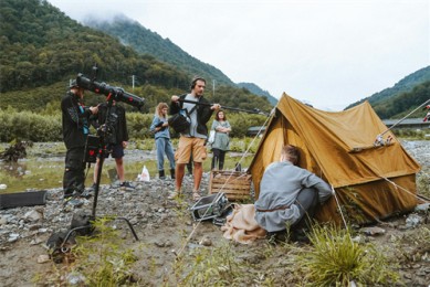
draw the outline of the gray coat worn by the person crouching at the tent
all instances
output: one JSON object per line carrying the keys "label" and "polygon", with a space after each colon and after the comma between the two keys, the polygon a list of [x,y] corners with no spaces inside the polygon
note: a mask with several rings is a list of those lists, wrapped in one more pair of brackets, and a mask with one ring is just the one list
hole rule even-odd
{"label": "gray coat worn by the person crouching at the tent", "polygon": [[282,231],[286,224],[294,224],[298,217],[295,200],[304,188],[314,188],[318,192],[319,203],[332,195],[332,188],[314,173],[291,163],[273,162],[264,171],[260,184],[260,196],[255,210],[287,209],[272,212],[255,211],[255,220],[268,232]]}

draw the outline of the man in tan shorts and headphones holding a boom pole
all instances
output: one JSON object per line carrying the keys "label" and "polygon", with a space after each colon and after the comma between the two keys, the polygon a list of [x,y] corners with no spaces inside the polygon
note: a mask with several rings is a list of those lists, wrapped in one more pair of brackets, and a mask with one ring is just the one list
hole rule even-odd
{"label": "man in tan shorts and headphones holding a boom pole", "polygon": [[[170,114],[186,113],[190,118],[190,127],[181,132],[178,144],[178,149],[175,153],[176,159],[176,189],[170,194],[170,199],[178,196],[181,193],[182,179],[185,167],[190,160],[192,152],[193,170],[193,190],[192,199],[200,199],[200,182],[203,176],[203,160],[207,158],[206,140],[208,138],[208,127],[206,126],[213,110],[221,108],[219,104],[210,105],[203,97],[206,88],[206,79],[195,77],[191,82],[191,92],[189,94],[171,96]],[[181,100],[192,103],[183,103]],[[193,104],[196,103],[196,104]]]}

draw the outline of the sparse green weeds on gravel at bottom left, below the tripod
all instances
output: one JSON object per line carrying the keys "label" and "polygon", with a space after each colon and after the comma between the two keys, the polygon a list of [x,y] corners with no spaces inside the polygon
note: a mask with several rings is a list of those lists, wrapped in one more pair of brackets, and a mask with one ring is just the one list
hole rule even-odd
{"label": "sparse green weeds on gravel at bottom left, below the tripod", "polygon": [[55,286],[138,286],[132,267],[137,261],[120,232],[108,226],[111,219],[97,219],[91,237],[76,237],[62,265],[49,275],[38,275],[35,283]]}

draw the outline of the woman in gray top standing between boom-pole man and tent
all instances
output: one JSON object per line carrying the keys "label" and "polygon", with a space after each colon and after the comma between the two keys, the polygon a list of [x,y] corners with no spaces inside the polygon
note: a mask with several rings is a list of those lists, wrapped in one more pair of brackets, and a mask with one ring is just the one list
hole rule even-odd
{"label": "woman in gray top standing between boom-pole man and tent", "polygon": [[218,162],[218,169],[222,170],[224,167],[226,152],[230,149],[229,132],[231,131],[230,123],[227,120],[223,110],[217,111],[211,130],[214,130],[216,132],[212,142],[213,157],[211,169],[213,170]]}

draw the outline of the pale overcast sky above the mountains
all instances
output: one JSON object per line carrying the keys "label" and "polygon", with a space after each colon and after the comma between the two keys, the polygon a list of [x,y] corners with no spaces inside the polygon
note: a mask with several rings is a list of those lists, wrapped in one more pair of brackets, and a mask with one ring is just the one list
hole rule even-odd
{"label": "pale overcast sky above the mountains", "polygon": [[342,110],[430,65],[430,0],[49,0],[122,13],[233,82]]}

